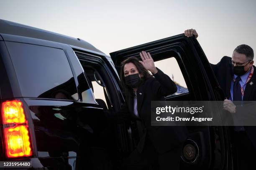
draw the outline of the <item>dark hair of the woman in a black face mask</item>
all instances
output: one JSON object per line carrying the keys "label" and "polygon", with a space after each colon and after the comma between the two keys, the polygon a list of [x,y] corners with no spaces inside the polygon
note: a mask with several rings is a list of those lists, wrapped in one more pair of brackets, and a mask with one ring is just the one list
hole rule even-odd
{"label": "dark hair of the woman in a black face mask", "polygon": [[138,72],[142,74],[141,84],[143,84],[143,82],[145,82],[149,77],[152,77],[152,75],[149,74],[148,70],[145,69],[145,67],[139,62],[139,60],[136,57],[131,57],[124,60],[123,62],[121,62],[120,81],[121,81],[121,86],[123,87],[125,95],[131,94],[133,92],[132,88],[125,84],[125,78],[124,78],[125,76],[123,72],[123,68],[125,64],[129,62],[132,62],[137,67]]}

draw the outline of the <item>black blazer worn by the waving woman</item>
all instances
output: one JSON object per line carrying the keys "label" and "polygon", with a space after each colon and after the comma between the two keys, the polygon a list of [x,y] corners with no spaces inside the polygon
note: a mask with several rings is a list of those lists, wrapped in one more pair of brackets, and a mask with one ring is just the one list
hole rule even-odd
{"label": "black blazer worn by the waving woman", "polygon": [[[182,126],[151,126],[151,101],[165,100],[164,96],[177,91],[177,86],[170,77],[157,68],[158,72],[154,77],[148,78],[137,90],[137,110],[146,132],[142,135],[137,149],[139,153],[143,150],[146,133],[150,137],[156,151],[164,153],[184,142],[187,138],[187,128]],[[132,93],[125,97],[125,104],[120,112],[112,112],[117,122],[131,121],[138,119],[133,113]]]}

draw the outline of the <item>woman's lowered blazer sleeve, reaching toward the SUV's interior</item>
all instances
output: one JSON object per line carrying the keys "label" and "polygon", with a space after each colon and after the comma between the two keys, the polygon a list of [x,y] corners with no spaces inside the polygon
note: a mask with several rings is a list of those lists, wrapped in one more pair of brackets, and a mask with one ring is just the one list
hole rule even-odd
{"label": "woman's lowered blazer sleeve, reaching toward the SUV's interior", "polygon": [[104,110],[103,112],[108,122],[113,122],[113,123],[131,122],[131,116],[130,116],[126,102],[122,106],[121,110],[117,112],[109,111],[109,110]]}

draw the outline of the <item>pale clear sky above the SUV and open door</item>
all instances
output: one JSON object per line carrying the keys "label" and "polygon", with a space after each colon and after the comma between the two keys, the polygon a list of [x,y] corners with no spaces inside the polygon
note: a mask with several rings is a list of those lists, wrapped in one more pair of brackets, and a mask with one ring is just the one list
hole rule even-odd
{"label": "pale clear sky above the SUV and open door", "polygon": [[256,0],[0,0],[1,19],[79,37],[108,55],[194,28],[212,63],[240,44],[256,50],[255,9]]}

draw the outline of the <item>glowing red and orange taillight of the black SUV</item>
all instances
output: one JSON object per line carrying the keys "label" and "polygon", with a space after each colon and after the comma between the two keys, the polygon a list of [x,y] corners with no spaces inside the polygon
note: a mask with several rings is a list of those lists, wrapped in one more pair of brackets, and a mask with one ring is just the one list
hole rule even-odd
{"label": "glowing red and orange taillight of the black SUV", "polygon": [[[3,102],[2,120],[7,157],[31,156],[31,143],[22,102],[19,100]],[[9,127],[8,124],[15,124],[15,126],[5,128]]]}

